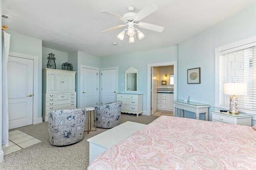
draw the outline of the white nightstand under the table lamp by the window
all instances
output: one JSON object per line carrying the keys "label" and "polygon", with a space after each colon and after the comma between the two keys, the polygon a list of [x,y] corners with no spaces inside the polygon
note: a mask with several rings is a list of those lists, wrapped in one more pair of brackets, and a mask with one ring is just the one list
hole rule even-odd
{"label": "white nightstand under the table lamp by the window", "polygon": [[252,126],[252,115],[247,115],[244,113],[239,113],[238,115],[230,114],[229,112],[220,112],[211,111],[212,112],[212,121],[229,123],[233,125],[246,125]]}

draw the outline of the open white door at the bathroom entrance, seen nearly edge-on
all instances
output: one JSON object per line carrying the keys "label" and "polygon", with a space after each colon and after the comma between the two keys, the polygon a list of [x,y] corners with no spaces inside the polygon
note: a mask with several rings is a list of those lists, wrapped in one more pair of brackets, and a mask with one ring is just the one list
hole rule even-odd
{"label": "open white door at the bathroom entrance, seen nearly edge-on", "polygon": [[151,70],[151,115],[156,112],[157,107],[157,70],[152,67]]}

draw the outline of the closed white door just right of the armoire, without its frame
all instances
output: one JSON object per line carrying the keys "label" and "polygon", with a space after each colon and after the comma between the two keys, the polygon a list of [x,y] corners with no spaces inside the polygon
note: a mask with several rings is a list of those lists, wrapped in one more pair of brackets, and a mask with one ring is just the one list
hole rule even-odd
{"label": "closed white door just right of the armoire, without its frame", "polygon": [[98,70],[81,68],[82,105],[81,107],[98,106]]}

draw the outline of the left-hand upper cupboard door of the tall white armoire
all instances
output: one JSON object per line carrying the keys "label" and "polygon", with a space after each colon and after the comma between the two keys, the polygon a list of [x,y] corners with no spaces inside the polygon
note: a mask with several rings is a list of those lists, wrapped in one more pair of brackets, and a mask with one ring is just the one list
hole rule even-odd
{"label": "left-hand upper cupboard door of the tall white armoire", "polygon": [[49,72],[48,73],[48,93],[61,92],[62,75],[60,73]]}

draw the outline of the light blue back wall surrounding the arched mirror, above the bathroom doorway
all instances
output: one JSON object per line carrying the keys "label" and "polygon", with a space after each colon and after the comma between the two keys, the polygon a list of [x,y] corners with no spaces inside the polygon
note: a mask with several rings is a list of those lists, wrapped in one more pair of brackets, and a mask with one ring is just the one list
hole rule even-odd
{"label": "light blue back wall surrounding the arched mirror, above the bathroom doorway", "polygon": [[152,49],[135,53],[126,53],[102,57],[101,68],[118,66],[118,91],[125,92],[124,73],[127,68],[133,66],[139,70],[138,90],[143,93],[143,110],[147,111],[147,68],[149,63],[162,63],[177,61],[178,46],[166,47],[161,49]]}

